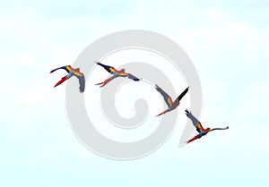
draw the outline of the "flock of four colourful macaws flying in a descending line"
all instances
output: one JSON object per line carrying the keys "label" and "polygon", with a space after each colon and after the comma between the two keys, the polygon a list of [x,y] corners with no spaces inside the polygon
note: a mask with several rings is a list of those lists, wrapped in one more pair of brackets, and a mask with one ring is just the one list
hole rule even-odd
{"label": "flock of four colourful macaws flying in a descending line", "polygon": [[[140,81],[141,80],[141,79],[138,79],[137,77],[135,77],[133,74],[127,73],[125,69],[117,70],[117,69],[115,69],[112,66],[108,66],[108,65],[105,65],[105,64],[100,64],[99,62],[97,62],[96,64],[102,66],[106,71],[108,71],[109,73],[112,74],[112,76],[109,77],[107,80],[95,84],[95,85],[100,85],[100,88],[101,87],[104,87],[106,84],[108,84],[109,81],[112,81],[112,80],[114,80],[117,77],[127,77],[128,79],[131,79],[133,81]],[[80,92],[83,92],[84,91],[84,89],[85,89],[84,74],[82,72],[80,72],[80,69],[79,68],[75,68],[74,69],[70,65],[65,65],[63,67],[56,68],[56,69],[52,70],[51,72],[56,72],[56,70],[59,70],[59,69],[65,70],[68,74],[65,77],[63,77],[60,81],[58,81],[54,87],[62,84],[64,81],[66,81],[66,80],[70,79],[71,77],[75,76],[79,80],[79,84],[80,84],[80,88],[79,89],[80,89]],[[156,86],[157,91],[159,91],[161,93],[161,96],[163,97],[163,99],[165,100],[165,102],[166,102],[166,104],[168,106],[168,109],[166,109],[161,114],[156,115],[156,116],[164,115],[164,114],[170,112],[171,110],[176,109],[179,106],[179,103],[180,103],[179,101],[181,100],[181,98],[183,98],[187,94],[187,91],[189,89],[189,87],[187,87],[187,89],[185,89],[178,96],[178,98],[176,98],[174,101],[172,101],[172,98],[170,98],[169,95],[163,89],[161,89],[157,84],[155,86]],[[195,135],[194,138],[192,138],[190,140],[187,140],[184,143],[184,145],[187,144],[187,143],[190,143],[190,142],[192,142],[194,140],[197,140],[197,139],[202,138],[208,132],[212,132],[212,131],[215,131],[215,130],[227,130],[227,129],[229,129],[229,126],[227,126],[226,128],[213,128],[213,129],[206,128],[206,129],[204,129],[204,127],[202,126],[202,123],[200,123],[195,118],[195,116],[191,114],[190,111],[188,111],[186,109],[185,112],[186,112],[187,117],[194,124],[195,129],[198,132],[198,134]]]}

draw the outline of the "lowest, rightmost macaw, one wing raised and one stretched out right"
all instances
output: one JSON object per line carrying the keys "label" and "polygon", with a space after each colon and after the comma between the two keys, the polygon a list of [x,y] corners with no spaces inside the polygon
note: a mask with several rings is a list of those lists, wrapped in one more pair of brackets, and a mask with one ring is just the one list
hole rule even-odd
{"label": "lowest, rightmost macaw, one wing raised and one stretched out right", "polygon": [[196,140],[196,139],[200,139],[202,136],[204,136],[208,132],[213,132],[215,130],[227,130],[227,129],[229,129],[229,126],[227,126],[226,128],[214,128],[214,129],[206,128],[206,129],[204,129],[204,127],[202,126],[202,124],[195,118],[194,115],[191,114],[190,111],[188,111],[186,109],[185,112],[186,112],[187,117],[189,119],[191,119],[191,121],[195,125],[196,131],[199,132],[199,134],[197,134],[194,138],[192,138],[190,140],[187,140],[186,143],[192,142],[193,140]]}

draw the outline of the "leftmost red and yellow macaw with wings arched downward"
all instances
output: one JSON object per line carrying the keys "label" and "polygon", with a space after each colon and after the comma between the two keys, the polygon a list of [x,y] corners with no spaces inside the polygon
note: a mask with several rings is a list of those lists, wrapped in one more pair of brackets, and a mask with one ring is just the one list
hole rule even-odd
{"label": "leftmost red and yellow macaw with wings arched downward", "polygon": [[56,70],[59,70],[59,69],[65,70],[66,72],[68,72],[68,74],[65,77],[63,77],[61,79],[61,81],[58,81],[54,87],[60,85],[61,83],[63,83],[64,81],[70,79],[74,75],[76,78],[79,79],[80,92],[84,91],[84,89],[85,89],[85,78],[84,78],[84,74],[82,72],[80,72],[80,68],[75,68],[74,69],[70,65],[65,65],[63,67],[59,67],[59,68],[56,68],[56,69],[52,70],[50,73],[55,72]]}

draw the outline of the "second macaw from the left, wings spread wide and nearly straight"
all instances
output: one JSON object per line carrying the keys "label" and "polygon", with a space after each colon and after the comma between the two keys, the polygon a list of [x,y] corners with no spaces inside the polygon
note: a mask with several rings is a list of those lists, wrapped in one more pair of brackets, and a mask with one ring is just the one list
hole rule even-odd
{"label": "second macaw from the left, wings spread wide and nearly straight", "polygon": [[106,84],[108,84],[109,81],[114,80],[117,77],[128,77],[131,80],[134,81],[140,81],[140,79],[138,79],[137,77],[135,77],[133,74],[131,73],[127,73],[125,69],[121,69],[121,70],[116,70],[114,67],[112,66],[108,66],[105,64],[100,64],[99,62],[97,62],[96,64],[99,64],[100,66],[102,66],[105,70],[107,70],[108,72],[110,72],[111,74],[113,74],[111,77],[109,77],[106,81],[102,81],[100,83],[97,83],[95,85],[100,85],[101,87],[104,87]]}

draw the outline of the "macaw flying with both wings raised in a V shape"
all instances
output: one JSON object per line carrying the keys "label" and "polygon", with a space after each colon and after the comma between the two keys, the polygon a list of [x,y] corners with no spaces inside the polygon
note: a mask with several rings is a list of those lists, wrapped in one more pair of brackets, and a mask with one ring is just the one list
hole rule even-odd
{"label": "macaw flying with both wings raised in a V shape", "polygon": [[[170,98],[169,95],[164,90],[162,90],[157,84],[155,86],[156,86],[157,91],[159,91],[161,93],[161,96],[165,100],[166,104],[169,106],[169,108],[167,110],[163,111],[159,115],[164,115],[164,114],[168,113],[169,111],[174,110],[175,108],[177,108],[179,106],[180,99],[183,98],[187,94],[187,90],[188,90],[188,87],[187,87],[187,89],[185,89],[178,96],[178,98],[176,98],[176,100],[173,102],[172,98]],[[159,115],[156,115],[156,117],[159,116]]]}

